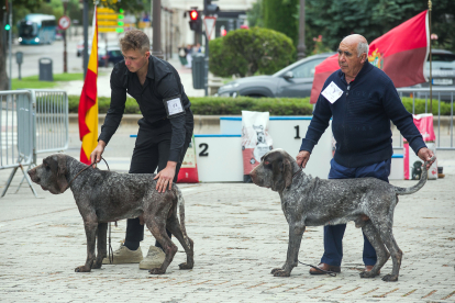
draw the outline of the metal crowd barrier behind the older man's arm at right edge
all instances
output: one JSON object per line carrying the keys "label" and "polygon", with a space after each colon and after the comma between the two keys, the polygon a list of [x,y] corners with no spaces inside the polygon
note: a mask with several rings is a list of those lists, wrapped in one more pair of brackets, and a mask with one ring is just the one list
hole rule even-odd
{"label": "metal crowd barrier behind the older man's arm at right edge", "polygon": [[[430,88],[399,88],[397,89],[400,97],[412,98],[412,113],[415,113],[415,99],[425,100],[425,112],[430,111]],[[454,146],[454,100],[455,89],[450,88],[432,88],[432,100],[433,103],[437,102],[437,115],[434,114],[433,127],[436,135],[436,149],[440,150],[455,150]],[[450,104],[451,114],[441,115],[441,104]],[[442,132],[441,126],[446,126],[447,132]],[[437,131],[436,131],[437,127]],[[442,141],[443,138],[443,141]],[[393,148],[402,148],[402,137],[400,135],[399,146]]]}

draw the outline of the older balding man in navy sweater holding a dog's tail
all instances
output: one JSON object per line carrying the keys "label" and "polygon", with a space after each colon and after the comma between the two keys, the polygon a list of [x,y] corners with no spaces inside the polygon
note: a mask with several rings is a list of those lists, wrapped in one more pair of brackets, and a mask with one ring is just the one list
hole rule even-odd
{"label": "older balding man in navy sweater holding a dog's tail", "polygon": [[[422,160],[431,161],[433,153],[426,148],[412,115],[402,105],[393,82],[368,63],[365,37],[349,35],[340,43],[339,65],[341,69],[328,78],[319,96],[297,162],[306,167],[331,117],[336,149],[329,179],[375,177],[388,182],[393,154],[390,121],[415,154]],[[341,271],[345,228],[346,224],[324,226],[324,255],[318,266],[320,269]],[[363,260],[366,271],[376,263],[376,251],[365,235]],[[312,268],[310,273],[323,272]]]}

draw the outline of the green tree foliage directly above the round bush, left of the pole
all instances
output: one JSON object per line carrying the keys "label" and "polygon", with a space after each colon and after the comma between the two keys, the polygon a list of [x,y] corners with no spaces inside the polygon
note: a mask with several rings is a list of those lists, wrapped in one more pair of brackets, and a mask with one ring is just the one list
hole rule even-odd
{"label": "green tree foliage directly above the round bush, left of the pole", "polygon": [[284,33],[293,41],[293,45],[299,43],[299,0],[263,0],[264,26]]}

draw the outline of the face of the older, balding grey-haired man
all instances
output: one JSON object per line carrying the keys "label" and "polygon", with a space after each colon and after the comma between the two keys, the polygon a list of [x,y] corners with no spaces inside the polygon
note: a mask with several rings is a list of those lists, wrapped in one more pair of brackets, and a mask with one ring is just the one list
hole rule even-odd
{"label": "face of the older, balding grey-haired man", "polygon": [[357,57],[357,43],[344,40],[339,47],[339,66],[348,77],[357,76],[365,63],[366,54]]}

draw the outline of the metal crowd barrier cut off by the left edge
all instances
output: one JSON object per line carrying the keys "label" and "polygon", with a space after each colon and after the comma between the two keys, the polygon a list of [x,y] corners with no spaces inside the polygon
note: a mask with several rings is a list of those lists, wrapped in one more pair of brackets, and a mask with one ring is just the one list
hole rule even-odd
{"label": "metal crowd barrier cut off by the left edge", "polygon": [[24,166],[33,164],[32,94],[30,91],[0,91],[0,170],[13,169],[1,197],[7,193],[18,168],[21,168],[24,179],[37,197],[32,180],[24,170]]}

